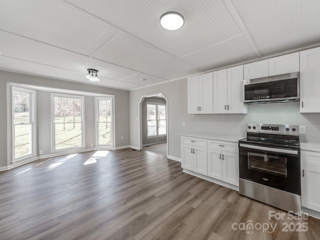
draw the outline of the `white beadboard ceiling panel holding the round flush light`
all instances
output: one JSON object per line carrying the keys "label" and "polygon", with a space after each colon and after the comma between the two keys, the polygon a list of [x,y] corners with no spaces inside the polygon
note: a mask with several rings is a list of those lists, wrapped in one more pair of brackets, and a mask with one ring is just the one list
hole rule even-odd
{"label": "white beadboard ceiling panel holding the round flush light", "polygon": [[[68,0],[159,49],[180,57],[241,33],[223,0]],[[160,16],[177,11],[185,19],[176,31],[163,29]],[[106,14],[107,12],[107,14]]]}

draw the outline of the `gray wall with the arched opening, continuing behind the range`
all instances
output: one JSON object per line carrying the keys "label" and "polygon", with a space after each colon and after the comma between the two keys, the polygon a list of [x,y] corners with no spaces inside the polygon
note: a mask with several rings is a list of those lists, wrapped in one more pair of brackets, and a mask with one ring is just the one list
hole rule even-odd
{"label": "gray wall with the arched opening, continuing behind the range", "polygon": [[[180,158],[180,133],[208,132],[245,135],[245,124],[274,123],[306,126],[301,141],[320,142],[320,113],[299,113],[298,102],[248,105],[248,114],[187,114],[187,79],[130,91],[130,143],[138,146],[138,102],[141,95],[162,92],[168,100],[168,155]],[[319,102],[320,104],[320,102]],[[185,121],[185,126],[182,126]]]}

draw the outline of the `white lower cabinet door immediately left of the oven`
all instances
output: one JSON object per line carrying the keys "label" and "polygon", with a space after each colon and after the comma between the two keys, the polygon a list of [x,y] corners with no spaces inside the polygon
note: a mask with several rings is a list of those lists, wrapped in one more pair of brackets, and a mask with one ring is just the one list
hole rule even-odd
{"label": "white lower cabinet door immediately left of the oven", "polygon": [[233,152],[222,151],[222,180],[239,185],[239,157]]}

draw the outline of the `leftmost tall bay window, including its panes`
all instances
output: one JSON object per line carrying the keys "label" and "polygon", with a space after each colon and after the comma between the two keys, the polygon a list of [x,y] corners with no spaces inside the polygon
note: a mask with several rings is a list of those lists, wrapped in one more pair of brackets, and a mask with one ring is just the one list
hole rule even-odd
{"label": "leftmost tall bay window, including its panes", "polygon": [[32,90],[12,86],[14,160],[34,154],[34,94]]}

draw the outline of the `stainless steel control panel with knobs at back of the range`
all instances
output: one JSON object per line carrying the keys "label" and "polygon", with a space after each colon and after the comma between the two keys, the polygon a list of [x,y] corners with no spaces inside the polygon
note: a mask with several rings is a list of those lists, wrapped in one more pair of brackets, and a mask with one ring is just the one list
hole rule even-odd
{"label": "stainless steel control panel with knobs at back of the range", "polygon": [[279,125],[279,124],[261,124],[261,123],[247,123],[247,132],[264,132],[274,134],[299,135],[299,125]]}

